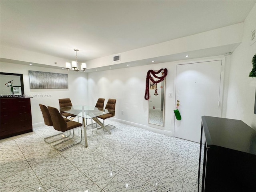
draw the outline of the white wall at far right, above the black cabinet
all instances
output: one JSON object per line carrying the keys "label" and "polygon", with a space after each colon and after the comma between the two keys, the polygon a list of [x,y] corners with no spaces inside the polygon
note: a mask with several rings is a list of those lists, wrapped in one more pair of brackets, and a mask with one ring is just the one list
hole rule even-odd
{"label": "white wall at far right, above the black cabinet", "polygon": [[252,57],[256,53],[256,43],[251,45],[251,30],[256,29],[256,5],[244,21],[242,43],[231,55],[228,88],[227,118],[239,119],[256,130],[254,100],[256,78],[249,78]]}

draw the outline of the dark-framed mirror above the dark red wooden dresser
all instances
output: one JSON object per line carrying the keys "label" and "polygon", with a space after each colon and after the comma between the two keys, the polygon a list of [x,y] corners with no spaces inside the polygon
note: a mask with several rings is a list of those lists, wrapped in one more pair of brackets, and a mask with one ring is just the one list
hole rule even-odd
{"label": "dark-framed mirror above the dark red wooden dresser", "polygon": [[0,72],[1,97],[24,96],[23,74]]}

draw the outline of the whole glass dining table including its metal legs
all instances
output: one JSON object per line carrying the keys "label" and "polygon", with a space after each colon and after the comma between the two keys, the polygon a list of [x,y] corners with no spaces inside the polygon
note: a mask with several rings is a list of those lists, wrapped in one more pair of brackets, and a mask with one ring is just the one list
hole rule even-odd
{"label": "whole glass dining table including its metal legs", "polygon": [[88,142],[87,142],[87,135],[86,135],[86,123],[85,119],[93,119],[96,123],[98,123],[106,132],[111,134],[110,130],[104,126],[100,120],[98,120],[98,116],[108,114],[111,112],[114,112],[113,110],[107,110],[103,108],[97,108],[97,107],[92,107],[92,106],[86,106],[86,105],[73,105],[73,106],[66,106],[66,107],[61,107],[60,111],[62,112],[67,112],[72,115],[76,115],[78,117],[82,117],[83,120],[83,125],[84,125],[84,141],[85,141],[85,146],[88,147]]}

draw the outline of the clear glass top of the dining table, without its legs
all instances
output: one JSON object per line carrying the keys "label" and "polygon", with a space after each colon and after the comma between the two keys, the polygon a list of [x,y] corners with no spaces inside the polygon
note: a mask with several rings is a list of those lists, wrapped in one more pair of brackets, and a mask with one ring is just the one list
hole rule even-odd
{"label": "clear glass top of the dining table, without its legs", "polygon": [[97,108],[92,106],[86,105],[73,105],[73,106],[66,106],[61,107],[60,111],[64,111],[78,117],[90,119],[94,117],[98,117],[100,115],[108,114],[110,112],[114,112],[113,110],[107,110],[103,108]]}

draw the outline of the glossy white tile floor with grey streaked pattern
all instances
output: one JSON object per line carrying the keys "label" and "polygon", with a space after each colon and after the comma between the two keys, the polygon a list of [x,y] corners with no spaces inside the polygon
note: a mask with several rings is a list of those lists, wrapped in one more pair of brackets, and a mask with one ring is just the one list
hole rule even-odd
{"label": "glossy white tile floor with grey streaked pattern", "polygon": [[198,143],[108,122],[112,134],[88,126],[88,148],[58,152],[44,141],[49,126],[0,140],[0,191],[197,191]]}

